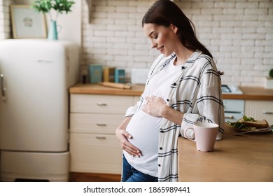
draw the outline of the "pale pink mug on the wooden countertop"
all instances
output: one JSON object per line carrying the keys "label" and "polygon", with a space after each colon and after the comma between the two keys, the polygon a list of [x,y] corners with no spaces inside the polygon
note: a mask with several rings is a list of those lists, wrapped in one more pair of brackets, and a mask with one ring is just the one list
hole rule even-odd
{"label": "pale pink mug on the wooden countertop", "polygon": [[[214,144],[218,134],[219,125],[214,123],[195,123],[193,127],[188,127],[185,130],[187,139],[195,141],[198,151],[209,152],[214,151]],[[195,139],[188,137],[188,131],[193,130]]]}

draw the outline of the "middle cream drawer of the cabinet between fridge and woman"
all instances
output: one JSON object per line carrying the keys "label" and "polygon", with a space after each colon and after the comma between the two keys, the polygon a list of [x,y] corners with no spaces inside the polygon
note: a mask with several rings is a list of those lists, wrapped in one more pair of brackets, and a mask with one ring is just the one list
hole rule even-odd
{"label": "middle cream drawer of the cabinet between fridge and woman", "polygon": [[125,114],[71,113],[71,133],[115,134]]}

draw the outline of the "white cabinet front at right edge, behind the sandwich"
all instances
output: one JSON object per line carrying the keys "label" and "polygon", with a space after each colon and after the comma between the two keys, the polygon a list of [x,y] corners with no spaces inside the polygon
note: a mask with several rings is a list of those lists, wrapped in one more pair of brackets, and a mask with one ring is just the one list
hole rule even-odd
{"label": "white cabinet front at right edge, behind the sandwich", "polygon": [[254,119],[265,119],[269,125],[273,124],[273,101],[246,100],[245,114]]}

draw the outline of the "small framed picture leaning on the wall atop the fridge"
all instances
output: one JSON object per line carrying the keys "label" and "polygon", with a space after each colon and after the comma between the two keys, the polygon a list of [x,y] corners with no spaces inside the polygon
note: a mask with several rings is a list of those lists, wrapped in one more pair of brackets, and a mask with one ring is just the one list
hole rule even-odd
{"label": "small framed picture leaning on the wall atop the fridge", "polygon": [[30,5],[10,5],[13,38],[46,38],[45,15]]}

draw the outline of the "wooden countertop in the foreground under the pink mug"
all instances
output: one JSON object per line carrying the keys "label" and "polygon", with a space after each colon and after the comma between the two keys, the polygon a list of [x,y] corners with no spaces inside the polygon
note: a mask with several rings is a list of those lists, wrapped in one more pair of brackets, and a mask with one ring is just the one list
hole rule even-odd
{"label": "wooden countertop in the foreground under the pink mug", "polygon": [[226,125],[223,140],[209,153],[179,138],[179,181],[272,182],[273,134],[235,133]]}

